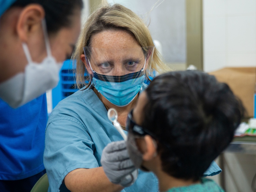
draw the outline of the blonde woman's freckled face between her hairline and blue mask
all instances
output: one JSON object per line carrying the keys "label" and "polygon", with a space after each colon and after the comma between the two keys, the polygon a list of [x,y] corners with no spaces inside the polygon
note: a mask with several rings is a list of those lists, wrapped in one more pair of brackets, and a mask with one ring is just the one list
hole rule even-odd
{"label": "blonde woman's freckled face between her hairline and blue mask", "polygon": [[125,30],[102,31],[91,38],[90,47],[90,64],[97,73],[121,76],[144,67],[145,55],[141,46]]}

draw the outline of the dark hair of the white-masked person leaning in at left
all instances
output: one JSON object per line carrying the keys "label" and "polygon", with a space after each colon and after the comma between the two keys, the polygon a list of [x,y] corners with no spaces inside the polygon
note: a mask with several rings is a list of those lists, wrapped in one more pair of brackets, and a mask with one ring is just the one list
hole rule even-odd
{"label": "dark hair of the white-masked person leaning in at left", "polygon": [[32,3],[44,8],[48,33],[56,33],[62,27],[69,27],[74,10],[83,8],[82,0],[17,0],[12,7],[25,7]]}

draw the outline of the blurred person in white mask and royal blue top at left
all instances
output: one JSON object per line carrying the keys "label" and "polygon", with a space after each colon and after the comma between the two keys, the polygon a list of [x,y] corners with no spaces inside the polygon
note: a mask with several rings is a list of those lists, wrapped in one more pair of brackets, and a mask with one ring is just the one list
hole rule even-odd
{"label": "blurred person in white mask and royal blue top at left", "polygon": [[82,7],[82,0],[0,0],[1,192],[30,191],[46,172],[45,91],[73,52]]}

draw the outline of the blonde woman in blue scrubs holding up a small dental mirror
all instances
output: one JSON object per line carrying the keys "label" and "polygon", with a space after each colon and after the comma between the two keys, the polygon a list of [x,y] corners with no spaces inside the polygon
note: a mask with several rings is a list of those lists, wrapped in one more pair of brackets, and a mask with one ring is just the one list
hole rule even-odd
{"label": "blonde woman in blue scrubs holding up a small dental mirror", "polygon": [[[59,102],[47,122],[48,191],[158,191],[156,177],[137,172],[126,149],[119,161],[109,157],[116,165],[113,183],[100,163],[104,147],[123,140],[108,120],[107,110],[114,107],[124,127],[152,71],[167,70],[148,28],[122,5],[102,6],[84,25],[73,59],[77,83],[84,87]],[[84,84],[85,71],[89,84]],[[211,174],[215,171],[210,169]]]}

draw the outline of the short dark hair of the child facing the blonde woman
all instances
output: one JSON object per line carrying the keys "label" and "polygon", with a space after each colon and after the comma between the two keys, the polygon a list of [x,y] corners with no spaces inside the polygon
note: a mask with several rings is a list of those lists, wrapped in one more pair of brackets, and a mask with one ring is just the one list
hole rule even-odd
{"label": "short dark hair of the child facing the blonde woman", "polygon": [[227,84],[191,70],[156,77],[146,94],[142,127],[155,134],[163,171],[198,180],[232,141],[241,101]]}

